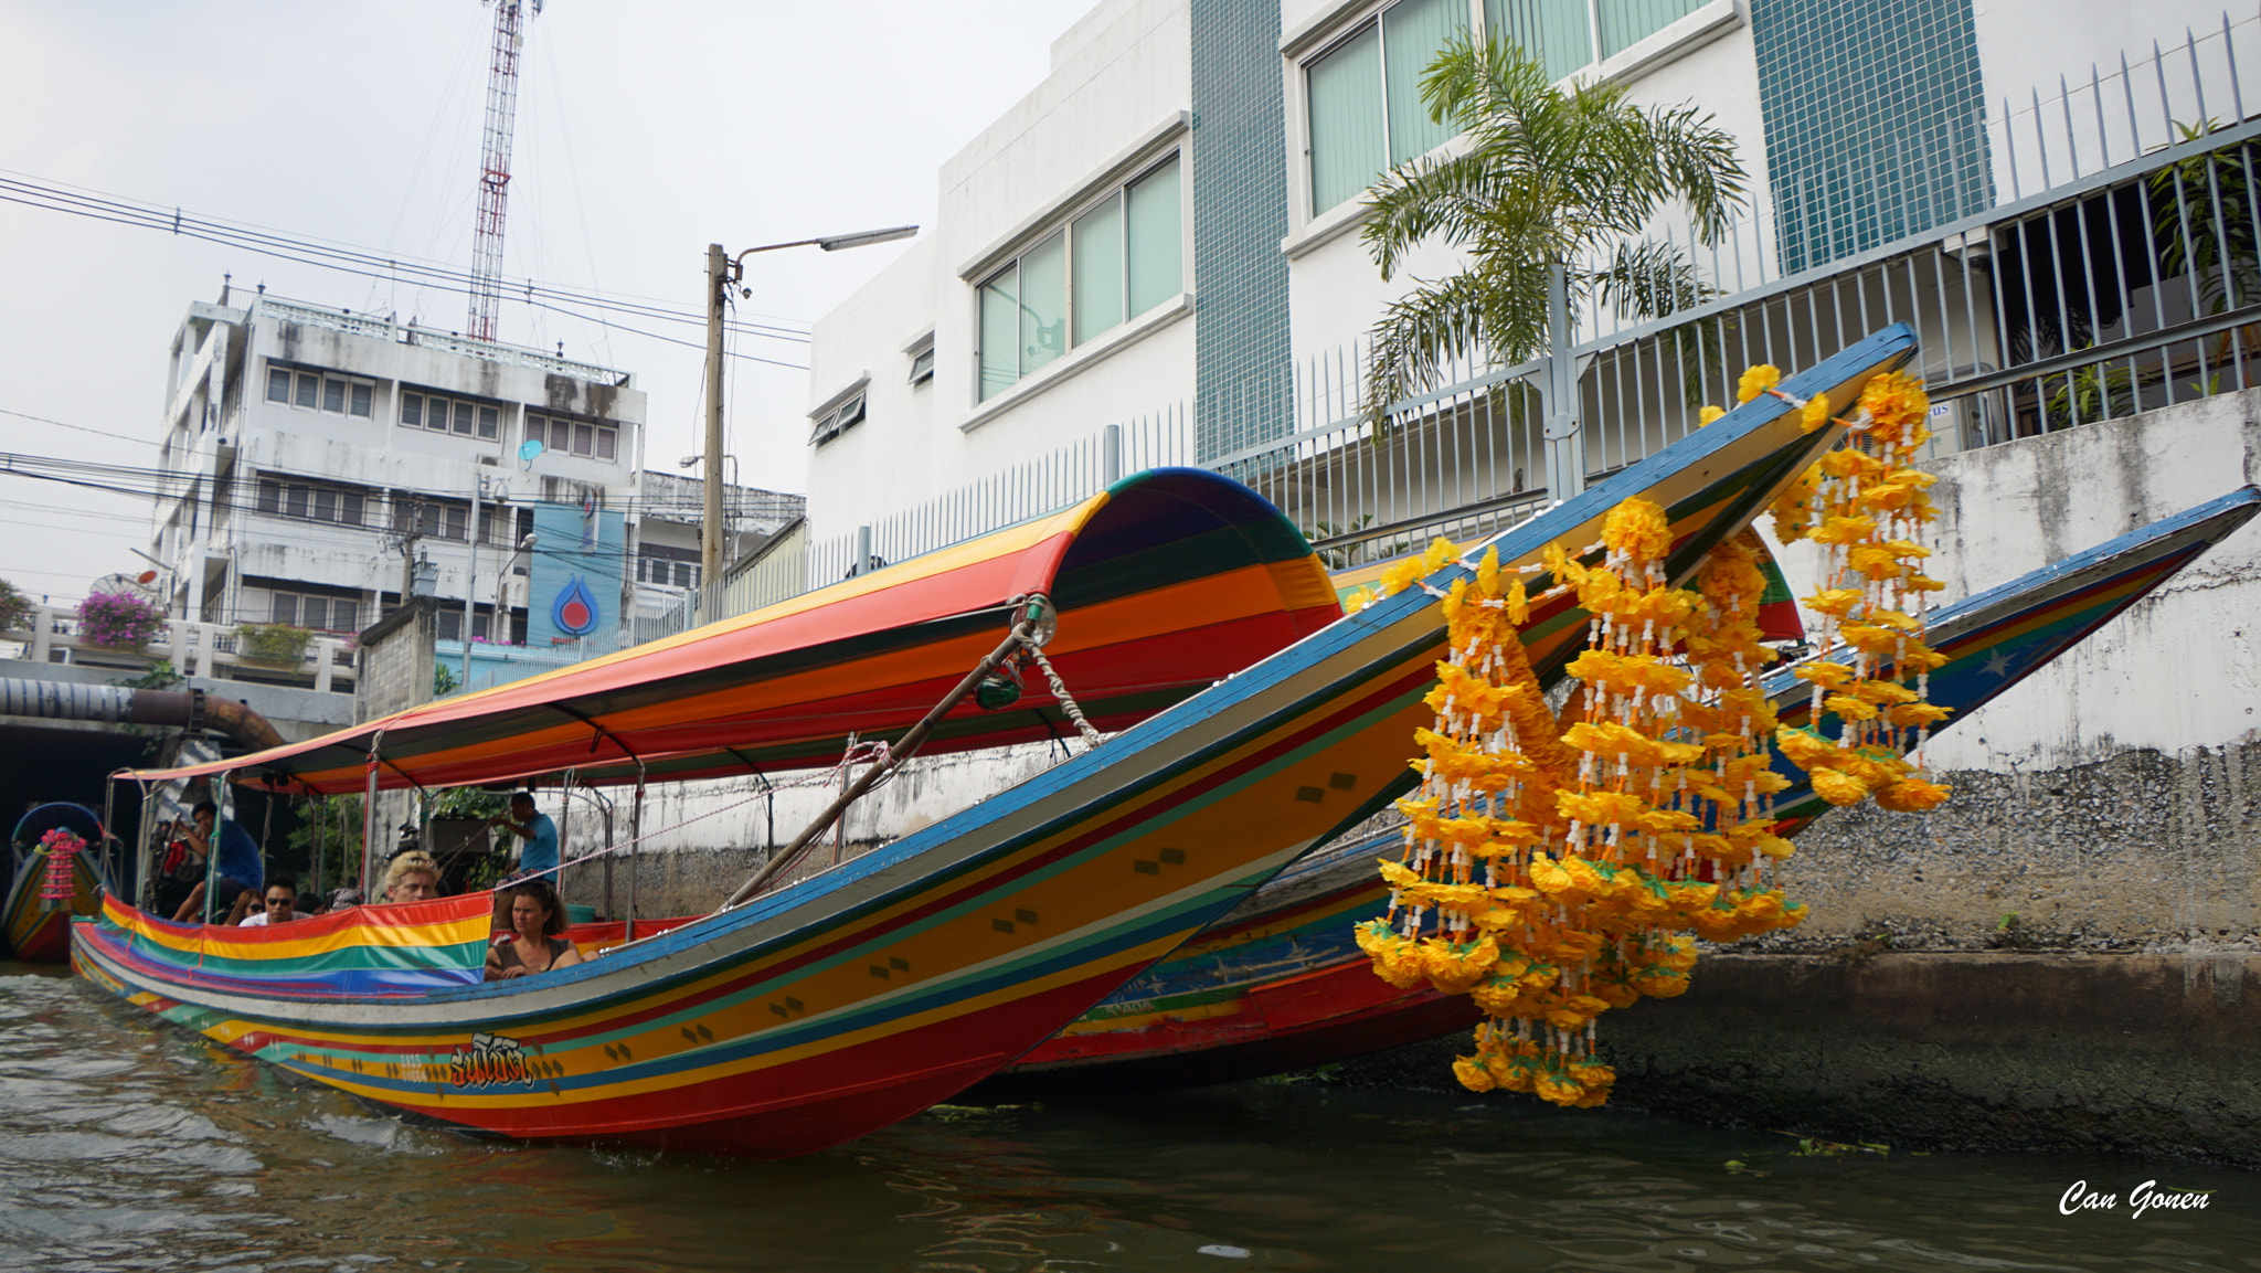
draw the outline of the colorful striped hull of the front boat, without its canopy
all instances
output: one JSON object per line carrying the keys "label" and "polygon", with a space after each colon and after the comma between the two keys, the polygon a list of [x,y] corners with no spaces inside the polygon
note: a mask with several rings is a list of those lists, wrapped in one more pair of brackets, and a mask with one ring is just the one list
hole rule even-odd
{"label": "colorful striped hull of the front boat, without its canopy", "polygon": [[[1849,400],[1913,344],[1890,328],[1791,391]],[[1684,574],[1834,439],[1752,402],[1508,531],[1501,558],[1589,545],[1646,495]],[[1533,660],[1567,660],[1583,626],[1558,604]],[[1386,807],[1443,640],[1427,595],[1393,597],[913,837],[543,977],[470,981],[486,895],[269,929],[111,900],[75,963],[222,1045],[468,1131],[805,1153],[979,1081]],[[319,986],[348,972],[362,990]]]}

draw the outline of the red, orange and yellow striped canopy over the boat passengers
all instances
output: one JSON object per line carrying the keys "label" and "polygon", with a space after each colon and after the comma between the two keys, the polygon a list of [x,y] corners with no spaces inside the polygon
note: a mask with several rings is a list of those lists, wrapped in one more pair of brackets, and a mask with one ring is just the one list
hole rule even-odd
{"label": "red, orange and yellow striped canopy over the boat passengers", "polygon": [[[1017,597],[1058,610],[1045,653],[1101,730],[1142,721],[1341,617],[1325,568],[1262,495],[1198,468],[1126,477],[1083,504],[608,658],[393,712],[310,742],[142,769],[233,771],[269,791],[583,782],[805,769],[850,733],[893,739],[1004,640]],[[927,751],[1067,733],[1036,678],[961,703]]]}

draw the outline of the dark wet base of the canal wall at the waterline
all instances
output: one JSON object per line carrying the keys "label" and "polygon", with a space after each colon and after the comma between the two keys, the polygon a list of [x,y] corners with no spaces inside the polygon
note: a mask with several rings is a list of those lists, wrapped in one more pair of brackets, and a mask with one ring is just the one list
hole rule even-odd
{"label": "dark wet base of the canal wall at the waterline", "polygon": [[[2261,1167],[2261,956],[1712,954],[1599,1022],[1612,1106],[1892,1149]],[[1452,1088],[1465,1038],[1336,1079]],[[1513,1101],[1528,1097],[1481,1097]]]}

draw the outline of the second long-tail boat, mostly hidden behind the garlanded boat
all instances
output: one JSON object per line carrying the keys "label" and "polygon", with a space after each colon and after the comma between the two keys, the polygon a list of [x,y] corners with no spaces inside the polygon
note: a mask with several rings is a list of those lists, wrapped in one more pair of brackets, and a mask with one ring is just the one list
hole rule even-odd
{"label": "second long-tail boat, mostly hidden behind the garlanded boat", "polygon": [[[1956,712],[1938,728],[2080,644],[2256,511],[2261,491],[2245,486],[1933,610],[1929,640],[1947,665],[1926,696]],[[1818,658],[1852,656],[1838,647]],[[1782,669],[1768,692],[1784,724],[1809,724],[1811,685]],[[1827,803],[1788,762],[1777,771],[1791,789],[1775,812],[1784,834],[1797,834]],[[1352,925],[1388,904],[1375,859],[1395,859],[1400,839],[1397,830],[1348,837],[1296,861],[970,1099],[1223,1083],[1474,1027],[1481,1013],[1467,995],[1397,990],[1352,941]]]}

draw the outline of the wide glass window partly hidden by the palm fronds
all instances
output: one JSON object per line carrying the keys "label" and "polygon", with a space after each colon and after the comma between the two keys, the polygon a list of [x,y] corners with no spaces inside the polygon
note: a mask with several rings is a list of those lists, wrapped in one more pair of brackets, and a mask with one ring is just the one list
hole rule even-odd
{"label": "wide glass window partly hidden by the palm fronds", "polygon": [[[1707,0],[1397,0],[1305,63],[1311,213],[1366,192],[1391,167],[1452,138],[1429,118],[1420,79],[1452,36],[1519,45],[1562,79],[1617,57]],[[1599,47],[1599,52],[1596,52]]]}

